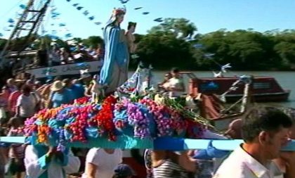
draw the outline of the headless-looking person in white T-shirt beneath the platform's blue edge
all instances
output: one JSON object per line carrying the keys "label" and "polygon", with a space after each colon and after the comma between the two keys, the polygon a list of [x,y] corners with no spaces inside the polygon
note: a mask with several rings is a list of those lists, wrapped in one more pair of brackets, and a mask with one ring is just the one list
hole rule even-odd
{"label": "headless-looking person in white T-shirt beneath the platform's blue edge", "polygon": [[114,168],[122,163],[122,150],[91,148],[86,156],[83,178],[112,178]]}

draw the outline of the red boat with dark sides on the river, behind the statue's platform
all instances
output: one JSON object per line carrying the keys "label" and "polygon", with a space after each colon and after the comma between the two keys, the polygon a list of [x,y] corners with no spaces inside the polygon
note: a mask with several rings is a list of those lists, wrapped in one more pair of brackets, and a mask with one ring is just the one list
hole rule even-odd
{"label": "red boat with dark sides on the river, behind the statue's platform", "polygon": [[[235,84],[239,77],[196,77],[192,72],[181,74],[190,77],[189,93],[192,95],[217,94],[225,96],[226,102],[238,101],[244,95],[244,84]],[[251,102],[282,102],[288,100],[291,90],[283,89],[274,77],[252,76],[249,92]]]}

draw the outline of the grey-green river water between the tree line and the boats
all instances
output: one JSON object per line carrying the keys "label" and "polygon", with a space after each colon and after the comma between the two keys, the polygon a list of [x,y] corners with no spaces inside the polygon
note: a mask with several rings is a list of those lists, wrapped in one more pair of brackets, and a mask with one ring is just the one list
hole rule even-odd
{"label": "grey-green river water between the tree line and the boats", "polygon": [[[164,74],[166,71],[153,71],[155,83],[162,82]],[[193,71],[197,77],[213,77],[211,71]],[[130,72],[130,75],[132,72]],[[291,94],[289,96],[289,101],[281,103],[268,103],[275,106],[285,106],[295,108],[295,72],[228,72],[225,74],[226,77],[235,75],[254,75],[254,76],[272,76],[275,77],[277,82],[283,89],[290,89]],[[185,81],[188,82],[188,77],[185,77]]]}

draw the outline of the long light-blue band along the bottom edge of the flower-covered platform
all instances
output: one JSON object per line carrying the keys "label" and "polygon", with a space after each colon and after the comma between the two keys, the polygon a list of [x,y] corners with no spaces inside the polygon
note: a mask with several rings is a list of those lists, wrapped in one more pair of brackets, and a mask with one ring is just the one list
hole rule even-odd
{"label": "long light-blue band along the bottom edge of the flower-covered platform", "polygon": [[[18,137],[18,138],[15,138]],[[32,144],[37,144],[34,137],[29,138]],[[79,148],[153,148],[158,150],[185,150],[206,149],[209,142],[212,146],[222,151],[232,151],[243,143],[242,140],[210,140],[210,139],[181,139],[172,137],[158,137],[156,139],[139,139],[132,136],[117,136],[117,141],[108,141],[106,138],[89,139],[88,143],[70,143],[67,146]],[[1,136],[0,142],[24,144],[25,136]],[[51,141],[51,144],[55,141]],[[53,144],[54,145],[54,144]],[[295,140],[292,140],[282,148],[282,151],[295,151]]]}

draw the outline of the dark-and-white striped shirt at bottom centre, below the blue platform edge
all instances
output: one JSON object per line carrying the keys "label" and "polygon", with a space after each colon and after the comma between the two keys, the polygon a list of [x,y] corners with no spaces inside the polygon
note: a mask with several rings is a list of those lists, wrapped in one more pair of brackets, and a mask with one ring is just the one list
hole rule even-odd
{"label": "dark-and-white striped shirt at bottom centre, below the blue platform edge", "polygon": [[183,167],[173,163],[170,159],[152,169],[155,178],[188,178],[188,172]]}

